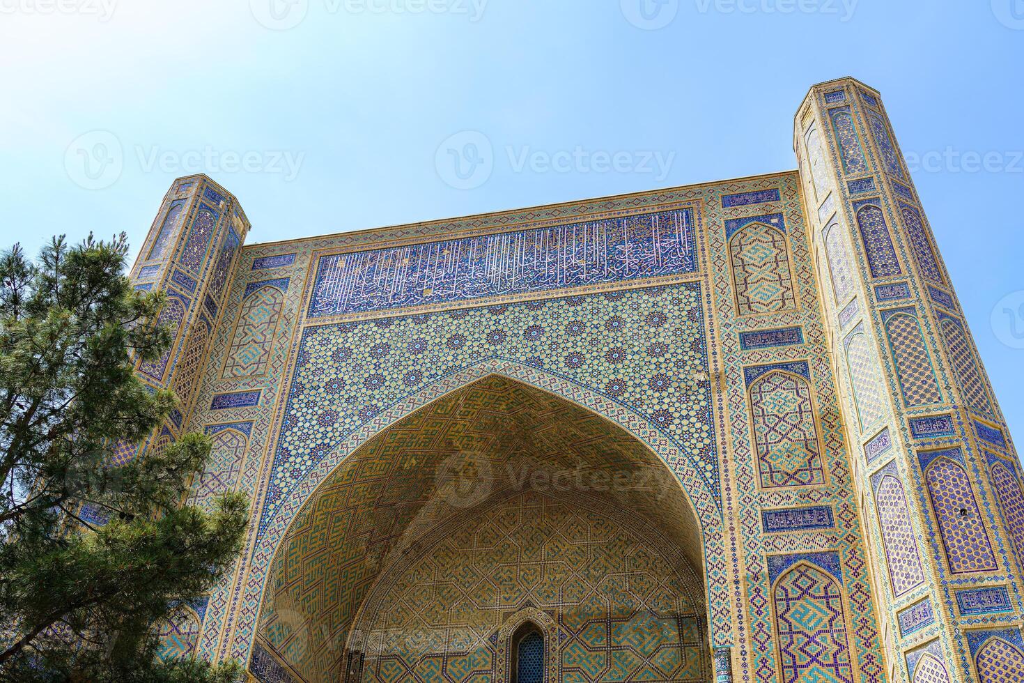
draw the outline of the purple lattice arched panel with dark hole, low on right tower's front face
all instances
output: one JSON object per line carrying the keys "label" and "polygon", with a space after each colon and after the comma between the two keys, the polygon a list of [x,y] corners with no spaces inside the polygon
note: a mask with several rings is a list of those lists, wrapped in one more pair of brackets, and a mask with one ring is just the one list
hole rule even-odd
{"label": "purple lattice arched panel with dark hole, low on right tower's front face", "polygon": [[925,469],[925,481],[949,570],[952,573],[994,571],[995,555],[964,468],[941,456]]}

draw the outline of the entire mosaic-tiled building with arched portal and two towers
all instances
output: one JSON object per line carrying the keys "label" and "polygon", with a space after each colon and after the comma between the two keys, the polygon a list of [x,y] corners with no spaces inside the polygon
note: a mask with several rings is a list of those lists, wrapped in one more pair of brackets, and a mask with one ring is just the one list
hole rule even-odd
{"label": "entire mosaic-tiled building with arched portal and two towers", "polygon": [[116,463],[204,432],[187,503],[251,521],[160,656],[1024,680],[1021,468],[893,130],[841,79],[799,171],[287,243],[176,180],[131,275],[174,333],[139,376],[181,405]]}

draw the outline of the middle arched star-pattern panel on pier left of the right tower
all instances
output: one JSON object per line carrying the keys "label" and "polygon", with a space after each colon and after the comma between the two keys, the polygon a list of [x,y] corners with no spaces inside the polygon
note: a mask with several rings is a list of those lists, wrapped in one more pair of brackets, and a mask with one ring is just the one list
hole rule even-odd
{"label": "middle arched star-pattern panel on pier left of the right tower", "polygon": [[751,385],[761,485],[824,483],[811,389],[803,377],[772,371]]}

